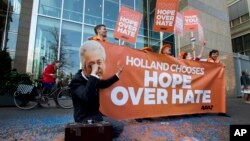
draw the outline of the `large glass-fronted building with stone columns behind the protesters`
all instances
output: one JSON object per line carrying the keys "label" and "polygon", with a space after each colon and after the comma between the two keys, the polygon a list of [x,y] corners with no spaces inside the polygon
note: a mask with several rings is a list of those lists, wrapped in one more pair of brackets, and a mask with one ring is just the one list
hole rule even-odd
{"label": "large glass-fronted building with stone columns behind the protesters", "polygon": [[[94,36],[93,28],[97,24],[107,26],[109,42],[123,43],[113,38],[113,32],[119,10],[126,6],[142,13],[143,18],[136,43],[124,44],[136,49],[150,46],[158,52],[160,34],[153,31],[155,5],[156,0],[0,0],[1,49],[10,52],[13,68],[32,73],[34,79],[55,59],[63,62],[61,71],[73,75],[81,67],[79,48],[88,37]],[[180,0],[179,11],[186,9],[199,10],[207,41],[203,58],[212,49],[220,51],[221,61],[227,66],[227,91],[234,93],[235,73],[225,0]],[[198,34],[194,36],[198,39]],[[249,54],[248,36],[244,39],[245,47],[239,52]],[[239,46],[239,40],[235,37],[233,45]],[[173,54],[175,46],[181,51],[191,51],[189,33],[178,37],[177,45],[173,34],[164,33],[163,43],[172,45]],[[195,45],[199,52],[198,40]]]}

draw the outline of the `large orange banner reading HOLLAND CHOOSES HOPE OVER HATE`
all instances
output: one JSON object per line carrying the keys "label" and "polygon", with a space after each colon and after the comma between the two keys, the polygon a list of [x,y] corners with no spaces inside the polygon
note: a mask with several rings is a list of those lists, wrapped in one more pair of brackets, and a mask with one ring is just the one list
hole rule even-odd
{"label": "large orange banner reading HOLLAND CHOOSES HOPE OVER HATE", "polygon": [[100,91],[100,110],[114,119],[225,113],[222,64],[180,60],[103,43],[105,78],[124,66],[119,81]]}

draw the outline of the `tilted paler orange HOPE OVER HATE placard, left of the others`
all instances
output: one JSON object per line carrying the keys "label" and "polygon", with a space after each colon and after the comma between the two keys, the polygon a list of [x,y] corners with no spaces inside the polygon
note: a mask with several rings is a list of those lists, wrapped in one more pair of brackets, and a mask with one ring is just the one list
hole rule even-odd
{"label": "tilted paler orange HOPE OVER HATE placard, left of the others", "polygon": [[135,43],[141,19],[141,13],[122,6],[117,19],[114,37],[126,42]]}

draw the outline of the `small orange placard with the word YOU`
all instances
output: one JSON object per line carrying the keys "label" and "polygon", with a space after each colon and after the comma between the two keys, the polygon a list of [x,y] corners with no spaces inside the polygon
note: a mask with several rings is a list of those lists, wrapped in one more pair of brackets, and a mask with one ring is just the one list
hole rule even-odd
{"label": "small orange placard with the word YOU", "polygon": [[195,32],[198,30],[198,11],[197,10],[186,10],[183,12],[184,17],[184,31]]}

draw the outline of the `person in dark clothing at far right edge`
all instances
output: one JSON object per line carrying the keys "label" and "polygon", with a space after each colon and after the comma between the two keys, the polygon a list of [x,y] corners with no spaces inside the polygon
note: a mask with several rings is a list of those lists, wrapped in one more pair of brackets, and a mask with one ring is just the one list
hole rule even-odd
{"label": "person in dark clothing at far right edge", "polygon": [[244,93],[244,102],[250,104],[250,78],[247,71],[242,71],[240,77],[242,92]]}

